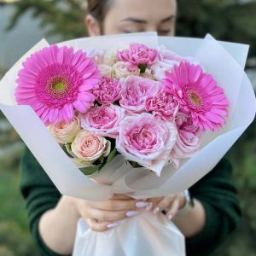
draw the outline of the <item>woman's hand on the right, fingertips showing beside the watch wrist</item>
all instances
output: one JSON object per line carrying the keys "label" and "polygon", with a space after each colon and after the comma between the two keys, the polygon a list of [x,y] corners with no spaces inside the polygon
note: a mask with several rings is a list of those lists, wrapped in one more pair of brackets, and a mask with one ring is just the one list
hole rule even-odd
{"label": "woman's hand on the right, fingertips showing beside the watch wrist", "polygon": [[151,198],[148,200],[148,202],[152,207],[152,212],[154,214],[166,210],[166,218],[171,220],[173,217],[175,217],[177,211],[184,207],[185,198],[183,193],[178,193],[164,197]]}

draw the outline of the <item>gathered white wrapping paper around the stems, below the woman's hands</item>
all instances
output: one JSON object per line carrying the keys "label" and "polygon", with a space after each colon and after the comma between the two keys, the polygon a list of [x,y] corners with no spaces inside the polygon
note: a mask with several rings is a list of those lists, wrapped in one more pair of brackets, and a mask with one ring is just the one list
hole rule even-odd
{"label": "gathered white wrapping paper around the stems, below the woman's hands", "polygon": [[125,219],[118,229],[101,234],[92,232],[84,219],[80,219],[73,255],[183,256],[182,241],[183,235],[172,222],[150,212],[144,212],[139,218]]}

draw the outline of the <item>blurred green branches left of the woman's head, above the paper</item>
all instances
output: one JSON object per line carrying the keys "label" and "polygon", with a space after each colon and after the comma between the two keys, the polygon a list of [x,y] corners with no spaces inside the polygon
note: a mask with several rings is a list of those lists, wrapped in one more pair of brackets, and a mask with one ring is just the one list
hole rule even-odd
{"label": "blurred green branches left of the woman's head, above the paper", "polygon": [[31,10],[34,18],[41,18],[41,26],[48,28],[49,35],[58,34],[63,39],[84,37],[83,3],[84,0],[18,1],[14,3],[16,11],[7,29],[11,30],[20,17]]}

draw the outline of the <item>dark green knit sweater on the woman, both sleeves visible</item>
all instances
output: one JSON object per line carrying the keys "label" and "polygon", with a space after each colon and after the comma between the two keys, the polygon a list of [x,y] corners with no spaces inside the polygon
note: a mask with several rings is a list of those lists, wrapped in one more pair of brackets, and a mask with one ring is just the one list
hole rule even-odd
{"label": "dark green knit sweater on the woman, both sleeves visible", "polygon": [[[231,182],[231,172],[229,161],[223,159],[189,189],[190,194],[205,207],[207,222],[200,234],[186,239],[188,256],[209,255],[236,229],[241,209]],[[26,150],[21,163],[21,192],[26,201],[32,236],[41,255],[58,255],[44,245],[38,234],[38,221],[45,211],[56,206],[61,194],[29,150]]]}

